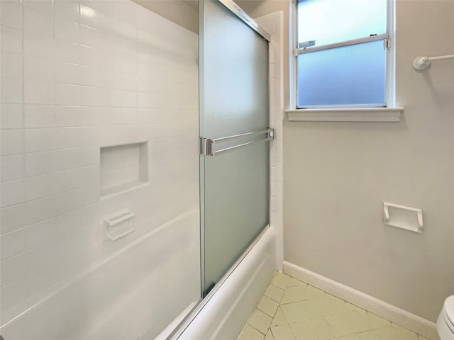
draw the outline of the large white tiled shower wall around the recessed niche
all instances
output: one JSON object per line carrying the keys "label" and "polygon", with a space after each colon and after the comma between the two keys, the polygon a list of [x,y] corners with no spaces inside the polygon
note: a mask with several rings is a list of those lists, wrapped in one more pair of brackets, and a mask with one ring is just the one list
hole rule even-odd
{"label": "large white tiled shower wall around the recessed niche", "polygon": [[[131,1],[0,4],[4,324],[198,207],[198,69],[195,33]],[[150,185],[100,200],[100,147],[143,141]],[[136,231],[103,241],[123,208]]]}

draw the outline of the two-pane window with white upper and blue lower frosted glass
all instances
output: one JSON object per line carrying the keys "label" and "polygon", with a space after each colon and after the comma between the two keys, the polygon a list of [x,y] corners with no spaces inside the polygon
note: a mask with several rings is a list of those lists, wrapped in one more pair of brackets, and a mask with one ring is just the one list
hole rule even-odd
{"label": "two-pane window with white upper and blue lower frosted glass", "polygon": [[297,1],[297,108],[387,106],[387,0]]}

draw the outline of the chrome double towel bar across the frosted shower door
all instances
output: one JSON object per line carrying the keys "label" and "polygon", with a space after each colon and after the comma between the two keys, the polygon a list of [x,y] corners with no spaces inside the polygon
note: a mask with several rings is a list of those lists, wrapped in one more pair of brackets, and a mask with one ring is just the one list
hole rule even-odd
{"label": "chrome double towel bar across the frosted shower door", "polygon": [[[223,149],[216,150],[216,142],[226,142],[229,140],[236,140],[238,138],[244,137],[252,137],[255,135],[265,135],[260,140],[253,140],[252,142],[243,142],[238,145],[233,145],[233,147],[226,147]],[[203,156],[211,156],[214,157],[218,154],[224,154],[226,152],[231,152],[235,149],[240,147],[247,147],[248,145],[252,145],[258,142],[267,142],[268,140],[272,140],[275,137],[275,129],[267,129],[267,130],[260,130],[255,132],[246,132],[240,135],[233,135],[228,137],[221,137],[221,138],[200,138],[200,154]]]}

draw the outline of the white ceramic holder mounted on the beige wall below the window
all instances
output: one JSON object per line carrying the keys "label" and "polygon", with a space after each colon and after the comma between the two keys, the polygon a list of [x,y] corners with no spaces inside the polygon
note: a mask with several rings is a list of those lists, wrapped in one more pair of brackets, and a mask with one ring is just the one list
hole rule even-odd
{"label": "white ceramic holder mounted on the beige wall below the window", "polygon": [[411,232],[423,232],[423,210],[383,202],[383,223]]}

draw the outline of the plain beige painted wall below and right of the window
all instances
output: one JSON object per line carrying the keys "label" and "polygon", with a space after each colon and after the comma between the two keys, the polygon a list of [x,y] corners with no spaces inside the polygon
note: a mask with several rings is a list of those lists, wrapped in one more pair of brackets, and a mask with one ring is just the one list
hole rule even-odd
{"label": "plain beige painted wall below and right of the window", "polygon": [[[284,123],[284,259],[436,321],[454,294],[454,1],[397,1],[401,123]],[[421,208],[424,232],[382,224]]]}

